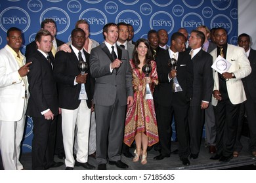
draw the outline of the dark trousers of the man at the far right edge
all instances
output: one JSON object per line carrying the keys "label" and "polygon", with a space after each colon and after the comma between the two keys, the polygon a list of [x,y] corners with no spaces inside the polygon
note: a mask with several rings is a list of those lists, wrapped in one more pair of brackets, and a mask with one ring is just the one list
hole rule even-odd
{"label": "dark trousers of the man at the far right edge", "polygon": [[247,101],[245,101],[244,104],[251,140],[249,150],[253,152],[256,151],[256,103],[253,101],[251,96],[247,96]]}

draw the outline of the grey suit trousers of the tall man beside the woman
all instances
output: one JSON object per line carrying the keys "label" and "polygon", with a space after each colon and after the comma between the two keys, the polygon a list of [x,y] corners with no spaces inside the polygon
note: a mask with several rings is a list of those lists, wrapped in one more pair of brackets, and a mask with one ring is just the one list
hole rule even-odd
{"label": "grey suit trousers of the tall man beside the woman", "polygon": [[126,106],[95,105],[96,161],[98,164],[121,160]]}

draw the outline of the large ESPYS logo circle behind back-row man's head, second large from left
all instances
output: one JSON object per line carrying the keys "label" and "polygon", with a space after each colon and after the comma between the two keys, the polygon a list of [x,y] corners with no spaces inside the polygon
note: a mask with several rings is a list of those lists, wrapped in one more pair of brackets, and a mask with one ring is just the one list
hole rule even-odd
{"label": "large ESPYS logo circle behind back-row man's head, second large from left", "polygon": [[70,26],[70,16],[61,8],[52,7],[44,10],[40,16],[40,22],[47,18],[51,18],[56,22],[58,34],[64,33]]}

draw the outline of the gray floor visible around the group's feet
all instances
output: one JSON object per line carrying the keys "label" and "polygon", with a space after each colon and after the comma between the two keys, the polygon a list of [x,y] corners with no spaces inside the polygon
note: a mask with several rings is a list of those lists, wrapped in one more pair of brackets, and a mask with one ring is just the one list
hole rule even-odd
{"label": "gray floor visible around the group's feet", "polygon": [[[199,158],[195,160],[190,160],[190,166],[183,166],[181,161],[179,160],[178,155],[171,155],[170,158],[164,158],[162,160],[154,160],[155,156],[158,156],[158,152],[156,152],[154,149],[150,150],[148,152],[148,163],[146,165],[141,165],[140,162],[133,163],[132,159],[126,158],[125,156],[122,156],[122,161],[127,163],[129,165],[129,170],[144,170],[144,169],[150,169],[150,170],[163,170],[163,169],[227,169],[230,167],[240,167],[243,165],[251,165],[256,163],[256,158],[253,158],[251,156],[251,153],[247,150],[249,139],[247,137],[242,136],[242,144],[244,144],[244,148],[242,152],[240,152],[240,156],[238,158],[231,159],[228,163],[223,163],[216,160],[209,159],[213,154],[209,154],[208,148],[205,148],[201,146],[201,151],[199,154]],[[177,148],[177,142],[172,142],[171,144],[171,150],[175,150]],[[130,149],[131,152],[133,152],[134,149]],[[54,158],[55,161],[62,161],[64,162],[64,159],[58,159],[56,156]],[[22,164],[24,165],[24,169],[30,170],[32,167],[32,158],[31,153],[22,154],[21,160]],[[95,165],[96,167],[96,160],[94,158],[89,157],[89,163],[92,165]],[[64,170],[65,165],[62,165],[61,167],[56,168],[56,170]],[[109,170],[118,170],[115,165],[108,165],[107,169]],[[255,166],[256,169],[256,166]],[[54,169],[51,169],[54,170]],[[74,170],[83,170],[83,167],[74,167]]]}

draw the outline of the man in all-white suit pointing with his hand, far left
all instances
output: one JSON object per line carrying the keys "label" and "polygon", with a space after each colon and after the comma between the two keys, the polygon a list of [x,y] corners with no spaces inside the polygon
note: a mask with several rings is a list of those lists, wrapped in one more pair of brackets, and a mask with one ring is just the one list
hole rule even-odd
{"label": "man in all-white suit pointing with his hand, far left", "polygon": [[20,52],[22,33],[11,27],[7,45],[0,50],[0,149],[3,167],[23,169],[19,161],[20,144],[24,133],[30,63]]}

